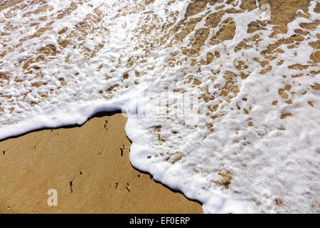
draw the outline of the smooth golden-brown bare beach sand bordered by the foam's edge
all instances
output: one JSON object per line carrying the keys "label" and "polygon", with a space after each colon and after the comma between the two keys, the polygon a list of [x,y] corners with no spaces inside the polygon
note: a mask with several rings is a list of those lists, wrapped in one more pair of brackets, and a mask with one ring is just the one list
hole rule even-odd
{"label": "smooth golden-brown bare beach sand bordered by the foam's edge", "polygon": [[121,113],[100,115],[0,142],[0,213],[201,213],[201,204],[132,167],[125,123]]}

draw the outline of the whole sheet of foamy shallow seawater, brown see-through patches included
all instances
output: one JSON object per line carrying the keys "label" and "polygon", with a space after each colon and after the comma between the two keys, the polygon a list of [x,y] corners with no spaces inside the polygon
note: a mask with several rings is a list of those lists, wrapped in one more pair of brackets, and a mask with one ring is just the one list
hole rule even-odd
{"label": "whole sheet of foamy shallow seawater, brown see-through patches included", "polygon": [[204,212],[319,213],[319,1],[0,1],[0,138],[123,110]]}

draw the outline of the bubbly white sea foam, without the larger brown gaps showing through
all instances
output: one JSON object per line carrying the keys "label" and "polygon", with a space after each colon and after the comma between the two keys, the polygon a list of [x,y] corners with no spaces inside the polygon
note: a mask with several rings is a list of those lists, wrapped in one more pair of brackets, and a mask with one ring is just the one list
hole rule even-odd
{"label": "bubbly white sea foam, without the larger brown gaps showing through", "polygon": [[[288,24],[288,32],[276,38],[268,38],[272,26],[267,25],[267,30],[255,32],[262,37],[259,45],[240,51],[235,51],[238,43],[252,36],[247,33],[247,24],[265,18],[267,14],[260,9],[225,14],[221,21],[233,18],[235,36],[211,46],[209,39],[219,28],[210,29],[201,55],[195,59],[205,59],[208,51],[218,51],[220,58],[201,66],[200,73],[198,66],[190,66],[190,58],[184,61],[186,56],[181,48],[188,46],[196,29],[205,26],[206,16],[193,32],[174,46],[166,47],[174,35],[165,39],[162,45],[155,41],[183,20],[188,1],[168,4],[169,1],[156,0],[145,8],[137,1],[86,1],[77,4],[78,8],[68,16],[55,19],[71,2],[48,1],[52,9],[40,14],[32,14],[37,4],[22,10],[0,11],[1,32],[5,32],[10,24],[18,26],[0,38],[1,51],[7,51],[0,61],[1,72],[11,73],[9,81],[0,81],[0,111],[4,109],[0,115],[0,139],[40,128],[81,125],[95,113],[123,110],[128,116],[125,130],[132,140],[132,165],[151,173],[164,185],[180,190],[186,197],[201,201],[204,212],[314,212],[314,207],[319,207],[314,205],[319,205],[320,193],[320,100],[319,91],[310,87],[320,81],[319,74],[310,75],[311,71],[319,71],[319,64],[309,66],[306,71],[288,68],[295,63],[307,64],[314,52],[308,43],[317,40],[319,27],[309,31],[297,48],[279,46],[284,53],[270,61],[272,71],[265,75],[260,74],[263,69],[260,63],[252,61],[255,57],[261,58],[261,51],[271,43],[294,34],[300,23],[319,19],[319,14],[313,12],[316,1],[311,1],[309,6],[310,19],[297,17]],[[97,11],[100,11],[101,21],[91,23],[90,19],[85,19],[88,14],[97,16]],[[172,16],[175,11],[178,12],[176,21]],[[218,10],[208,5],[201,15],[208,16],[215,11]],[[30,14],[26,16],[28,12]],[[45,21],[40,20],[43,16],[47,16]],[[52,29],[17,46],[21,38],[33,35],[50,21],[54,21],[50,24]],[[81,21],[88,22],[88,26],[92,26],[88,31],[95,32],[85,34],[75,29]],[[171,27],[163,30],[162,26],[166,24]],[[60,35],[58,32],[63,28],[68,31]],[[139,33],[146,29],[150,33]],[[63,38],[68,38],[72,45],[59,46],[58,40]],[[78,38],[83,39],[78,41]],[[104,46],[95,53],[101,43]],[[39,72],[34,69],[26,74],[23,70],[25,59],[49,44],[59,52],[55,56],[48,54],[50,58],[46,61],[31,63],[33,67],[41,68],[42,76],[37,76]],[[10,51],[15,46],[15,50]],[[149,51],[148,56],[146,51]],[[170,67],[169,53],[174,51],[178,52],[176,61],[182,64]],[[88,58],[92,53],[95,56]],[[68,61],[65,61],[67,57]],[[136,57],[136,61],[128,66],[131,57]],[[240,60],[248,64],[246,72],[250,75],[245,80],[239,76],[233,78],[239,93],[230,93],[233,98],[228,100],[220,95],[226,81],[223,76],[228,71],[239,73],[235,64]],[[281,66],[277,65],[280,60],[284,61]],[[215,81],[210,78],[211,70],[220,70]],[[135,71],[141,76],[136,77]],[[127,79],[124,78],[126,73]],[[303,73],[303,77],[291,78],[298,73]],[[189,76],[198,78],[201,85],[187,83]],[[32,86],[38,81],[43,84]],[[286,92],[292,103],[286,103],[278,93],[287,84],[292,86],[290,93]],[[114,91],[110,92],[108,89],[112,87]],[[201,97],[206,87],[215,99],[208,103],[199,100],[198,114],[191,111],[179,114],[180,108],[174,107],[181,103],[173,102],[166,109],[161,106],[161,100],[164,100],[161,94],[181,89],[186,97],[192,94]],[[278,101],[277,105],[272,105],[274,100]],[[310,100],[314,107],[308,104]],[[219,106],[214,115],[218,118],[213,119],[206,113],[208,105],[216,104]],[[243,108],[249,110],[249,115]],[[284,113],[292,113],[292,116],[281,119]],[[248,125],[250,122],[253,127]],[[213,133],[208,130],[208,123],[213,124]],[[160,133],[154,130],[157,126],[161,126]],[[174,152],[182,152],[182,157],[171,164],[166,160]],[[230,187],[225,189],[217,182],[221,179],[219,174],[227,171],[232,180]],[[276,199],[281,199],[282,205],[275,204]]]}

